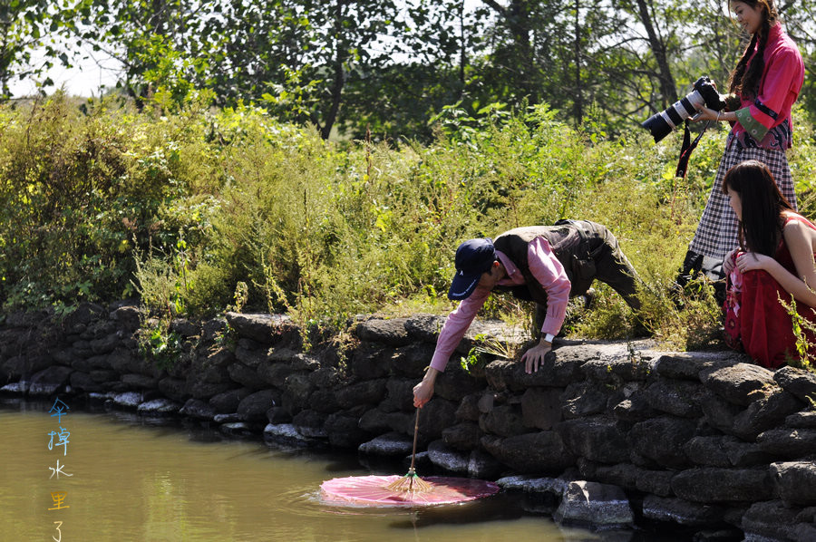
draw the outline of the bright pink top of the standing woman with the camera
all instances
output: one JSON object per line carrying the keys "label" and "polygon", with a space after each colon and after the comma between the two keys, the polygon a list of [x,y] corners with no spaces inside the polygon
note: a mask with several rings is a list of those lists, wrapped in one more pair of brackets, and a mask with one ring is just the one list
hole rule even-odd
{"label": "bright pink top of the standing woman with the camera", "polygon": [[[756,54],[756,49],[753,54]],[[744,139],[750,134],[760,147],[789,149],[792,144],[791,132],[777,133],[772,129],[787,119],[792,130],[791,108],[804,81],[804,63],[796,44],[782,30],[782,24],[771,27],[763,59],[765,63],[759,95],[743,96],[740,109],[735,111],[738,122],[734,123],[732,134],[743,142],[743,146],[748,146],[744,144]]]}

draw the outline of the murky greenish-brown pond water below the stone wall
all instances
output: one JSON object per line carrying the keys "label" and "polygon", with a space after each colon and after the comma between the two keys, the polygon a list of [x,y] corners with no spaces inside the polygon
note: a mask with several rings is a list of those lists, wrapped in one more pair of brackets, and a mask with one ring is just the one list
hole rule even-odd
{"label": "murky greenish-brown pond water below the stone wall", "polygon": [[[0,541],[646,539],[559,527],[503,492],[439,508],[337,508],[319,487],[371,474],[354,455],[270,448],[66,403],[61,419],[47,412],[51,403],[0,404]],[[393,469],[375,473],[403,474]]]}

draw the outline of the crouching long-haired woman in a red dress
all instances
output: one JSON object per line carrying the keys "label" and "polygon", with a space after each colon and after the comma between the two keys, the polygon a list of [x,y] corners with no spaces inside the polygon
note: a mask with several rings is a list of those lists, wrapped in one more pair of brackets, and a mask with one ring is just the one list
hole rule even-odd
{"label": "crouching long-haired woman in a red dress", "polygon": [[[725,334],[765,367],[799,357],[792,315],[782,305],[797,302],[809,343],[816,324],[816,226],[782,196],[771,171],[758,160],[729,169],[723,195],[739,219],[740,248],[723,264],[728,275]],[[809,287],[811,286],[811,287]],[[810,324],[808,324],[810,323]],[[816,347],[807,349],[813,355]]]}

